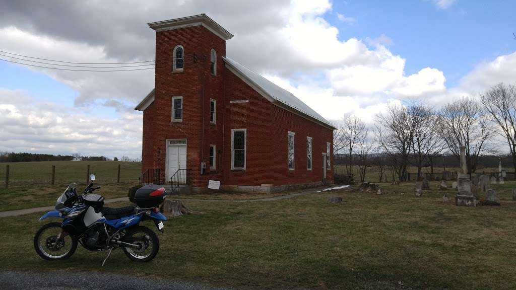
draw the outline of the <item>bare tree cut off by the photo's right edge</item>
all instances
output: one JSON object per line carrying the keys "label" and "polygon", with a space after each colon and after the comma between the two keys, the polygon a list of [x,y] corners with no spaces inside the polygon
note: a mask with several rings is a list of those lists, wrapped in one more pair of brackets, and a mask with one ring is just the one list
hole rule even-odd
{"label": "bare tree cut off by the photo's right edge", "polygon": [[495,132],[507,142],[516,171],[516,87],[500,83],[480,94],[480,100],[488,118],[501,129]]}

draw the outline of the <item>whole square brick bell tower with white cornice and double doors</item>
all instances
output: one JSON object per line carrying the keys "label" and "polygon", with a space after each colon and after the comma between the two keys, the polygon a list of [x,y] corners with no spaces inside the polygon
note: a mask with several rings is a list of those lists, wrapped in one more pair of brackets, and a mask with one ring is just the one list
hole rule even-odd
{"label": "whole square brick bell tower with white cornice and double doors", "polygon": [[222,58],[233,35],[206,14],[148,25],[156,69],[154,102],[143,113],[142,170],[160,168],[170,181],[187,169],[193,190],[201,189],[223,177]]}

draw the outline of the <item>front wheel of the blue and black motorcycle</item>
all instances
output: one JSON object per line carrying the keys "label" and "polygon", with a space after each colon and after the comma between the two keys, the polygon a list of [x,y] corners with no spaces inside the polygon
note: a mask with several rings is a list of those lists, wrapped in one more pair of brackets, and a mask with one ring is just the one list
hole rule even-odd
{"label": "front wheel of the blue and black motorcycle", "polygon": [[77,249],[77,240],[62,233],[59,222],[43,225],[34,236],[34,249],[38,255],[48,261],[65,260],[73,255]]}

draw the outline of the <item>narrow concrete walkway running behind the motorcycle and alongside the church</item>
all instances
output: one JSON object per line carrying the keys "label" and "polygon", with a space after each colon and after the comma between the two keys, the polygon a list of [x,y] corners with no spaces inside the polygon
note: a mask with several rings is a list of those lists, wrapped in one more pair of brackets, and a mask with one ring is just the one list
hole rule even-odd
{"label": "narrow concrete walkway running behind the motorcycle and alongside the church", "polygon": [[[327,186],[326,188],[331,188]],[[319,190],[319,191],[317,191]],[[320,193],[320,188],[309,188],[304,189],[300,192],[296,192],[294,194],[284,195],[284,196],[277,196],[277,197],[269,197],[269,198],[259,198],[259,199],[242,199],[242,200],[228,200],[228,199],[191,199],[191,198],[179,198],[171,196],[170,198],[182,200],[182,201],[207,201],[207,202],[256,202],[256,201],[275,201],[275,200],[282,200],[287,198],[293,198],[298,196],[304,196],[314,193]],[[105,203],[112,203],[112,202],[119,202],[119,201],[129,201],[126,197],[121,198],[114,198],[114,199],[107,199],[104,201]],[[24,210],[16,210],[16,211],[7,211],[7,212],[0,212],[0,218],[3,217],[12,217],[12,216],[21,216],[21,215],[27,215],[27,214],[33,214],[33,213],[39,213],[39,212],[47,212],[54,210],[54,206],[43,206],[43,207],[35,207],[35,208],[25,208]]]}

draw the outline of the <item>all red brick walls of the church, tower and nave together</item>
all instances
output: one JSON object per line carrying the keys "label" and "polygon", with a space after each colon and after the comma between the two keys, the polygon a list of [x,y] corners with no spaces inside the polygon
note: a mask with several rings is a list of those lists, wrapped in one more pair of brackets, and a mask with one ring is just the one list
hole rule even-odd
{"label": "all red brick walls of the church, tower and nave together", "polygon": [[[173,49],[179,44],[184,47],[184,70],[173,73]],[[211,49],[217,52],[216,76],[209,71]],[[326,142],[332,142],[332,130],[270,103],[225,68],[223,56],[225,41],[202,26],[156,33],[155,100],[143,113],[142,172],[161,168],[165,178],[166,140],[187,139],[187,168],[196,187],[206,187],[208,180],[250,186],[321,181],[321,153],[326,152]],[[183,96],[181,123],[171,122],[173,96]],[[209,121],[210,99],[216,100],[216,124]],[[238,128],[247,130],[246,170],[231,170],[231,129]],[[287,164],[288,131],[296,133],[294,171]],[[307,170],[307,136],[313,138],[311,171]],[[213,171],[210,144],[216,146]],[[201,162],[206,163],[203,175]],[[332,172],[328,170],[327,180],[333,180]]]}

